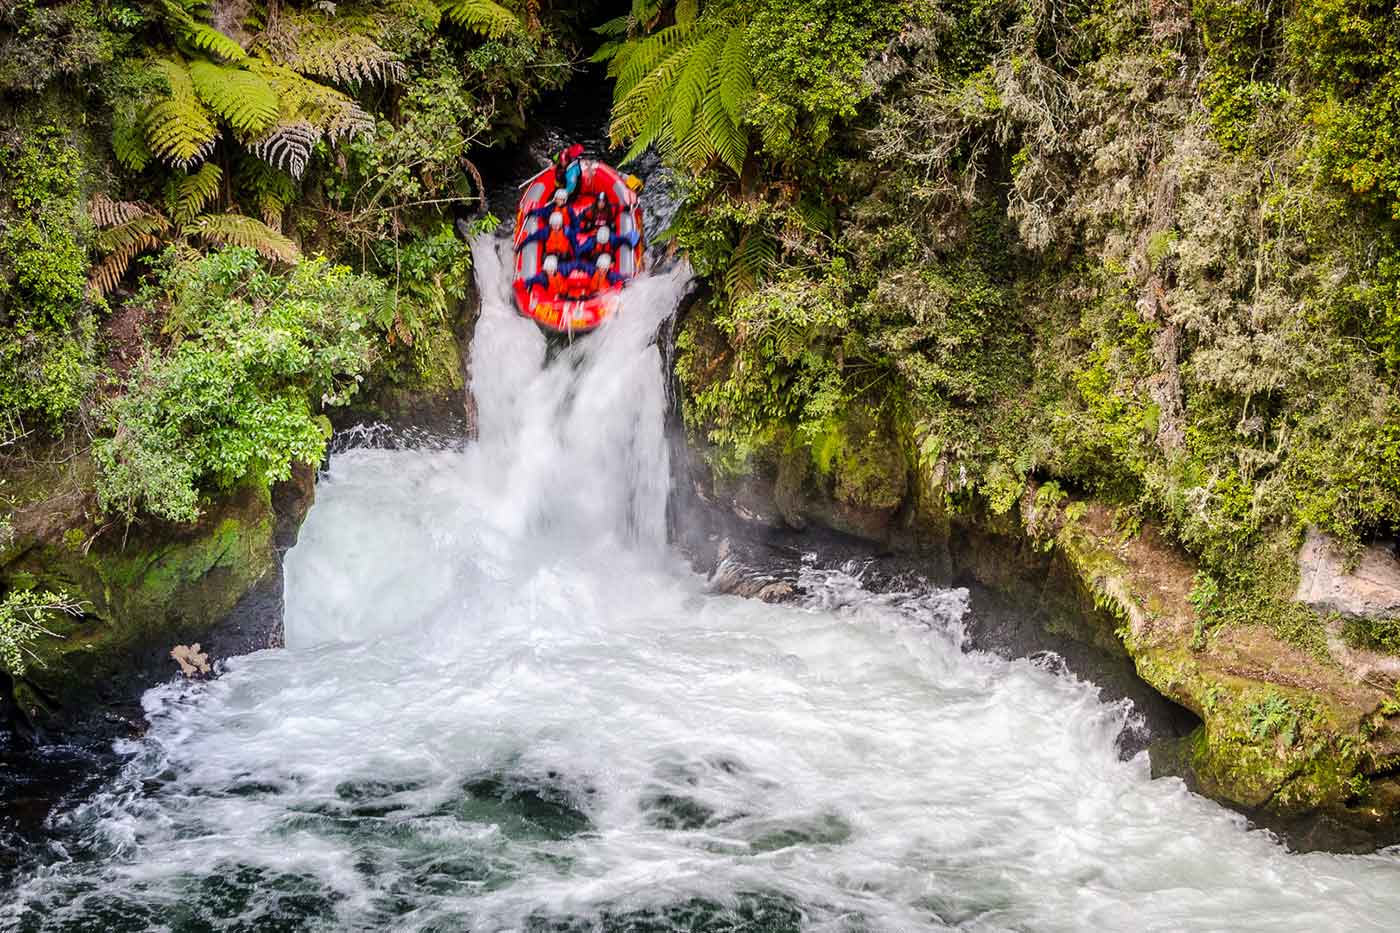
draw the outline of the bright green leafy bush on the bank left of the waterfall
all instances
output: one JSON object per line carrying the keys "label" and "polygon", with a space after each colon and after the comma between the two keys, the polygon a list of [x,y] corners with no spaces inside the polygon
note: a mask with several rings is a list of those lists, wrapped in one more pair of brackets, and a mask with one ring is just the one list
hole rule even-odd
{"label": "bright green leafy bush on the bank left of the waterfall", "polygon": [[349,401],[372,361],[384,286],[325,259],[269,273],[252,249],[167,254],[140,298],[168,303],[171,346],[151,347],[108,403],[94,444],[98,502],[134,518],[195,521],[200,495],[270,483],[315,464],[322,405]]}

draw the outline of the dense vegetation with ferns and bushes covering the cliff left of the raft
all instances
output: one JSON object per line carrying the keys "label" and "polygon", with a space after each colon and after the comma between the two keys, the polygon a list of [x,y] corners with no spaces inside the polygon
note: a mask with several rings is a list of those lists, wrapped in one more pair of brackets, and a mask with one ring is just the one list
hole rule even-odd
{"label": "dense vegetation with ferns and bushes covering the cliff left of the raft", "polygon": [[4,506],[60,492],[27,476],[71,465],[84,553],[183,534],[319,462],[364,385],[461,385],[456,227],[491,223],[472,158],[570,77],[588,15],[0,4],[0,671],[77,608],[4,572],[28,546]]}

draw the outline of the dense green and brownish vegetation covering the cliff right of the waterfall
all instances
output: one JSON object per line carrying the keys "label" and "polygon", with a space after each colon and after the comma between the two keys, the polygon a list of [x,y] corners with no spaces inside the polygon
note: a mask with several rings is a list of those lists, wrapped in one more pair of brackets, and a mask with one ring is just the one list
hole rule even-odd
{"label": "dense green and brownish vegetation covering the cliff right of the waterfall", "polygon": [[868,412],[955,507],[1112,503],[1194,555],[1208,621],[1319,649],[1301,531],[1400,525],[1393,3],[784,11],[638,4],[605,52],[613,132],[694,170],[715,464],[829,466]]}

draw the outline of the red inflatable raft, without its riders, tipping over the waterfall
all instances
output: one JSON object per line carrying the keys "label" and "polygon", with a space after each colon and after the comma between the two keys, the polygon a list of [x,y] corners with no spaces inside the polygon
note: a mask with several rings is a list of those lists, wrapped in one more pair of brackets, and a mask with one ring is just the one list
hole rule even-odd
{"label": "red inflatable raft, without its riders, tipping over the waterfall", "polygon": [[581,160],[578,191],[568,202],[573,212],[580,212],[594,203],[599,192],[608,192],[615,213],[608,220],[613,234],[623,241],[631,240],[636,231],[636,245],[624,245],[615,238],[612,249],[612,272],[620,282],[602,290],[588,287],[588,277],[557,277],[557,283],[526,284],[538,276],[545,259],[545,244],[539,240],[525,242],[531,234],[547,221],[538,212],[553,203],[554,170],[546,168],[525,185],[519,206],[515,210],[515,305],[521,314],[533,318],[536,324],[559,333],[581,333],[592,331],[617,308],[623,286],[641,272],[644,262],[644,241],[641,230],[641,207],[637,192],[627,185],[627,177],[612,165]]}

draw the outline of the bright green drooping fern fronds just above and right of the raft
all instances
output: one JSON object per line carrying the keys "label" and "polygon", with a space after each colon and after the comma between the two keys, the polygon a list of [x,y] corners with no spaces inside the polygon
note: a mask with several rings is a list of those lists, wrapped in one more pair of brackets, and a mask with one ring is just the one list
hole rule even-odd
{"label": "bright green drooping fern fronds just above and right of the raft", "polygon": [[616,46],[609,73],[617,78],[609,133],[615,143],[631,141],[629,158],[655,146],[693,170],[715,160],[742,170],[753,92],[743,22],[678,15],[675,25]]}

